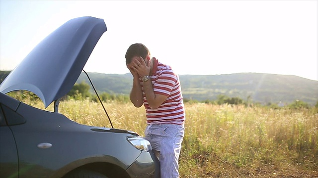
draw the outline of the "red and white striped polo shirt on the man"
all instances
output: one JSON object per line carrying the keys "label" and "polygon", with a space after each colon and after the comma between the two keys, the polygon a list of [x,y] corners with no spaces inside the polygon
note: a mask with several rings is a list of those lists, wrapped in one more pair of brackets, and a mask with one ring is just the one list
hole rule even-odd
{"label": "red and white striped polo shirt on the man", "polygon": [[147,124],[183,124],[185,111],[179,77],[169,66],[158,62],[155,57],[153,59],[151,81],[154,92],[166,95],[167,98],[157,109],[150,108],[141,81]]}

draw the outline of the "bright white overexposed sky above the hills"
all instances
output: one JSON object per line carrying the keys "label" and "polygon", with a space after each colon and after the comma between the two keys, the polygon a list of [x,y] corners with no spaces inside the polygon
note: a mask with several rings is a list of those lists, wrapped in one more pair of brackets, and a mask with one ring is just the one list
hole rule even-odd
{"label": "bright white overexposed sky above the hills", "polygon": [[81,16],[107,26],[86,72],[129,73],[126,50],[143,43],[179,75],[318,80],[318,0],[0,0],[0,70]]}

